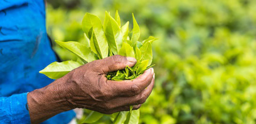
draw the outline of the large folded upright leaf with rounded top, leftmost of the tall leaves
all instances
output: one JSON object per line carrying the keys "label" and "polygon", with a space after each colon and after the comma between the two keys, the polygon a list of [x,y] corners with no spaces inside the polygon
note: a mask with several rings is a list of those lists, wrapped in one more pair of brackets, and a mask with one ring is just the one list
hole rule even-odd
{"label": "large folded upright leaf with rounded top, leftmost of the tall leaves", "polygon": [[[108,42],[106,40],[105,33],[103,31],[103,26],[101,20],[94,14],[86,13],[82,21],[82,28],[84,33],[86,33],[88,38],[93,38],[94,44],[91,44],[91,49],[98,54],[100,59],[108,57]],[[92,34],[90,33],[92,31]],[[95,49],[92,48],[92,45]],[[98,52],[96,52],[96,50]]]}

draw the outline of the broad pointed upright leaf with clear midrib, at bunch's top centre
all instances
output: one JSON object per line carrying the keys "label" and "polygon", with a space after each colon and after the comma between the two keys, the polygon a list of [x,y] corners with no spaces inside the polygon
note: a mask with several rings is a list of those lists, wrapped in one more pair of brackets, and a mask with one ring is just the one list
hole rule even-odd
{"label": "broad pointed upright leaf with clear midrib, at bunch's top centre", "polygon": [[122,47],[122,32],[120,26],[113,17],[108,14],[108,24],[106,26],[106,38],[108,40],[108,45],[110,46],[114,55],[118,54],[118,51]]}

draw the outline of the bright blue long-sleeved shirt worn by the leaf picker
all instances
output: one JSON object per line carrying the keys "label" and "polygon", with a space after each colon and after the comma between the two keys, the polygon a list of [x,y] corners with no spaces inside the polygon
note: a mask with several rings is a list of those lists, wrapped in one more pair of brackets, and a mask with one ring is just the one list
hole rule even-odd
{"label": "bright blue long-sleeved shirt worn by the leaf picker", "polygon": [[[39,71],[54,61],[44,0],[0,0],[0,124],[30,124],[27,93],[52,83]],[[43,124],[67,124],[74,116],[63,112]]]}

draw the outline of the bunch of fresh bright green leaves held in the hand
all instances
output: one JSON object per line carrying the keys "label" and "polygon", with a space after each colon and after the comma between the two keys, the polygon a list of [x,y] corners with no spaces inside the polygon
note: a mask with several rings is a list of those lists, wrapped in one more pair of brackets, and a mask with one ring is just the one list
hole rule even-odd
{"label": "bunch of fresh bright green leaves held in the hand", "polygon": [[[133,14],[132,14],[133,15]],[[140,76],[146,69],[152,67],[152,42],[156,38],[150,36],[148,39],[140,42],[140,27],[133,15],[133,29],[129,31],[129,21],[121,26],[121,19],[116,11],[115,18],[106,12],[102,25],[101,20],[94,14],[86,13],[82,21],[84,31],[83,42],[76,41],[55,41],[74,53],[77,61],[53,62],[40,71],[51,79],[59,79],[69,73],[71,70],[91,62],[100,60],[113,55],[122,55],[134,57],[137,63],[133,67],[126,67],[124,70],[109,72],[106,77],[109,80],[122,81],[133,80]],[[93,123],[100,119],[103,114],[91,112],[88,117],[82,119],[81,123]],[[113,114],[113,124],[138,124],[139,110],[130,112],[119,112]]]}

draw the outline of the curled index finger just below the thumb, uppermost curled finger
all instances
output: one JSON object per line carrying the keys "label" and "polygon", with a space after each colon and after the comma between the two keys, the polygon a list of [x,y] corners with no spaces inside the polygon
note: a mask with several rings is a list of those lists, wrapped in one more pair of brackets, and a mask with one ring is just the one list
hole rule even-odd
{"label": "curled index finger just below the thumb, uppermost curled finger", "polygon": [[154,69],[150,68],[146,70],[138,78],[130,81],[106,81],[114,95],[118,96],[132,96],[139,94],[143,91],[152,81]]}

